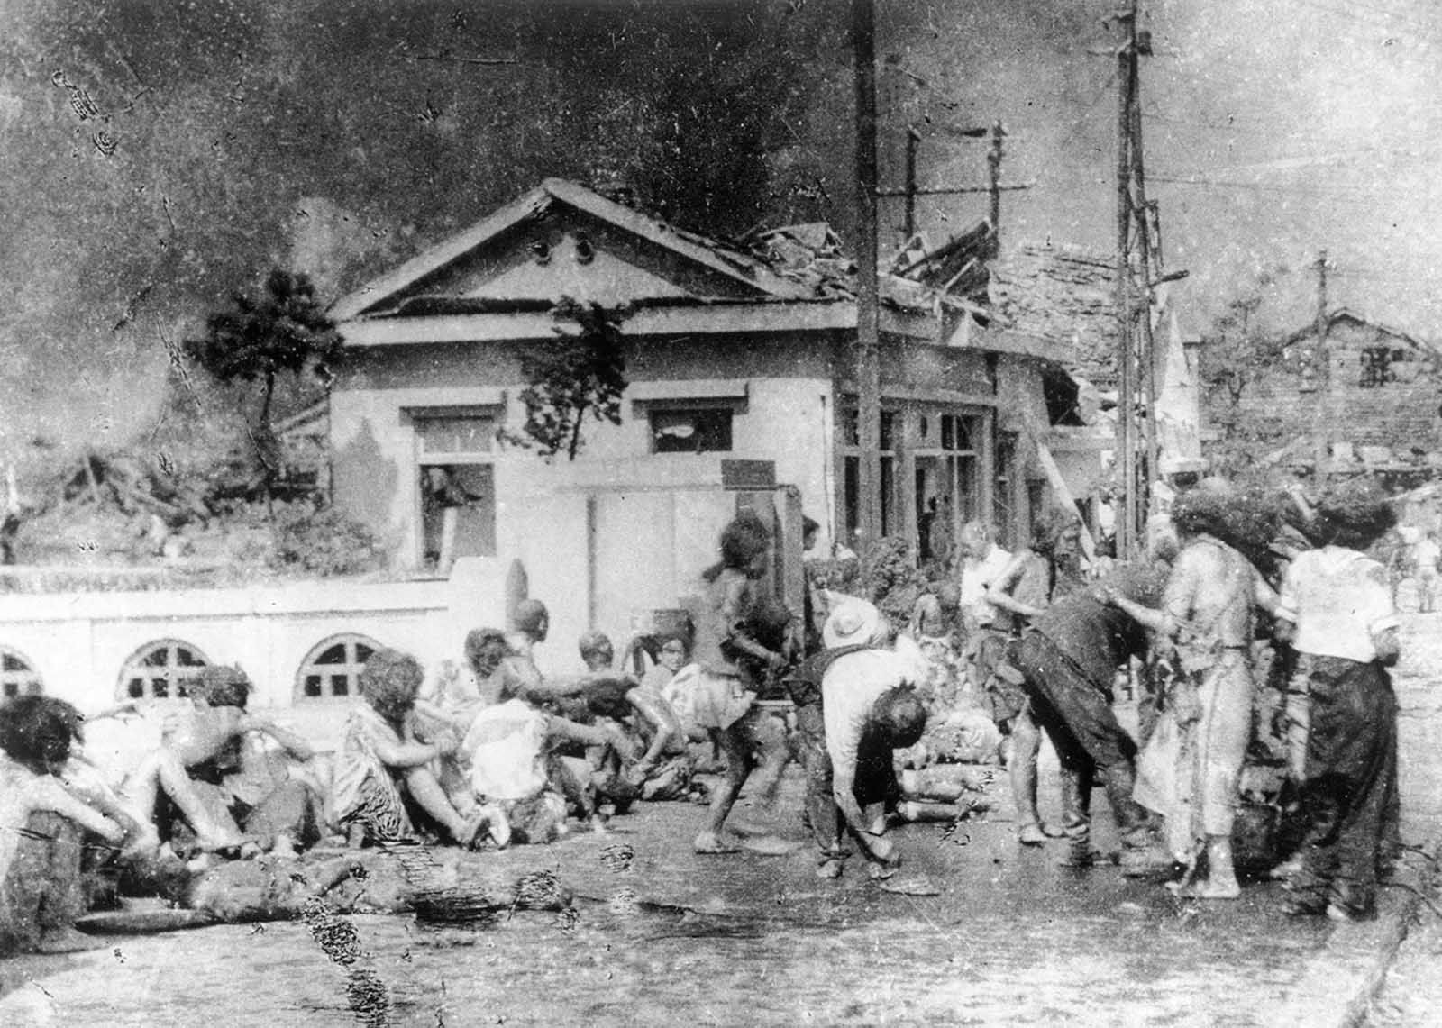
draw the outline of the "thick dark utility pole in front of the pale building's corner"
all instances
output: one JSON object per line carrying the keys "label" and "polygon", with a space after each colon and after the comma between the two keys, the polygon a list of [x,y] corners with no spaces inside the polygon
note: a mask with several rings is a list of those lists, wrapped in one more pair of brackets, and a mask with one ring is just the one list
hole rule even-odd
{"label": "thick dark utility pole in front of the pale building's corner", "polygon": [[[881,525],[881,324],[877,303],[877,53],[872,0],[851,0],[857,102],[857,428],[861,460],[854,528],[864,546]],[[852,541],[848,539],[848,544]]]}

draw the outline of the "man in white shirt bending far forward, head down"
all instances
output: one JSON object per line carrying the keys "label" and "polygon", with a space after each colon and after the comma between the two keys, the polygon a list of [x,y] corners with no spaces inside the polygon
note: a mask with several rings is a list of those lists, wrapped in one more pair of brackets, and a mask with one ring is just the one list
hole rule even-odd
{"label": "man in white shirt bending far forward, head down", "polygon": [[[883,649],[890,634],[881,611],[864,600],[838,604],[822,629],[833,655],[820,688],[832,797],[872,878],[901,867],[895,843],[885,838],[885,799],[895,784],[891,751],[914,745],[926,728],[926,706],[913,689],[924,681],[926,657],[904,637],[897,649]],[[832,854],[822,877],[841,874],[839,845]]]}

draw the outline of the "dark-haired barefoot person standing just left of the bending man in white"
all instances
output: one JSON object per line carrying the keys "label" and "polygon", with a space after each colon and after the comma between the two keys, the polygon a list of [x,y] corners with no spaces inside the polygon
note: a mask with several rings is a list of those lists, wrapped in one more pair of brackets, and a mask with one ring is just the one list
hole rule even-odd
{"label": "dark-haired barefoot person standing just left of the bending man in white", "polygon": [[773,731],[771,718],[754,705],[756,668],[786,668],[786,657],[763,646],[753,629],[764,598],[756,580],[766,570],[770,549],[770,532],[761,519],[750,512],[737,515],[721,532],[721,561],[701,575],[707,585],[707,604],[696,624],[694,659],[701,665],[701,679],[694,717],[720,741],[727,768],[725,779],[711,797],[707,826],[694,842],[698,854],[722,854],[737,848],[724,841],[722,829],[741,786],[757,768],[753,753],[761,753],[760,766],[767,784],[776,783],[786,760],[784,734]]}

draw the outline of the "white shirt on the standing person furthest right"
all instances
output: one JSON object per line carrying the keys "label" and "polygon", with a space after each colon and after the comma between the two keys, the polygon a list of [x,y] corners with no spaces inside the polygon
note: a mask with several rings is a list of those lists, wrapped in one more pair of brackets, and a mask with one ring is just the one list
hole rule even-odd
{"label": "white shirt on the standing person furthest right", "polygon": [[1377,657],[1373,636],[1397,627],[1386,570],[1341,546],[1308,549],[1292,559],[1278,616],[1296,626],[1292,646],[1299,653],[1363,663]]}

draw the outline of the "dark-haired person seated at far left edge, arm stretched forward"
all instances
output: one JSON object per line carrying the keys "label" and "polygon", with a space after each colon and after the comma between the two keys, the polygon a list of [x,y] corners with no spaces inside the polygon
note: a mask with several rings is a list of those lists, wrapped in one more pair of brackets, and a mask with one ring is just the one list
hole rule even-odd
{"label": "dark-haired person seated at far left edge, arm stretched forward", "polygon": [[0,706],[0,954],[91,949],[74,929],[84,913],[82,833],[120,846],[127,828],[138,830],[61,780],[79,740],[81,714],[63,699],[20,696]]}

